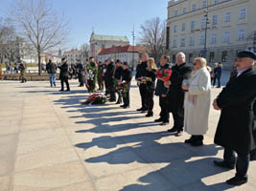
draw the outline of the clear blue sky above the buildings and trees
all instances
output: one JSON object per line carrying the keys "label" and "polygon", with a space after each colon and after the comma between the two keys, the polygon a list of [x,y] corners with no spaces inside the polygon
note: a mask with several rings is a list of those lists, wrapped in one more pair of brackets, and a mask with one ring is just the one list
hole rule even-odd
{"label": "clear blue sky above the buildings and trees", "polygon": [[[1,0],[0,16],[4,16],[15,0]],[[168,0],[52,0],[53,9],[65,12],[71,28],[68,47],[80,47],[89,41],[92,29],[106,35],[126,35],[132,43],[134,23],[136,38],[139,26],[147,19],[167,19]]]}

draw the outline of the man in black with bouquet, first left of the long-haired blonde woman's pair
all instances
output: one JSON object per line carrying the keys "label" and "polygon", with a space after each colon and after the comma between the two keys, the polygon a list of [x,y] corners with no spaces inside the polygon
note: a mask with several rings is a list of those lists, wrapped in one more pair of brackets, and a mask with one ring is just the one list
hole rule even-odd
{"label": "man in black with bouquet, first left of the long-haired blonde woman's pair", "polygon": [[125,95],[123,95],[124,105],[121,106],[124,109],[129,108],[129,88],[130,88],[131,78],[132,78],[132,73],[128,68],[128,62],[124,62],[123,72],[122,72],[122,82],[128,83],[128,92]]}

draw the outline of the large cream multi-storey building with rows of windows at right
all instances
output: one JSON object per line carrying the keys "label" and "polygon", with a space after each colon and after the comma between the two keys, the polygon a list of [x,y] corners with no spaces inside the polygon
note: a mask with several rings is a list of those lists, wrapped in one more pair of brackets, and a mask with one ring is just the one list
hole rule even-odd
{"label": "large cream multi-storey building with rows of windows at right", "polygon": [[206,54],[210,65],[221,62],[229,69],[236,53],[256,51],[255,8],[255,0],[169,1],[166,48],[171,59],[175,62],[175,53],[183,52],[192,62]]}

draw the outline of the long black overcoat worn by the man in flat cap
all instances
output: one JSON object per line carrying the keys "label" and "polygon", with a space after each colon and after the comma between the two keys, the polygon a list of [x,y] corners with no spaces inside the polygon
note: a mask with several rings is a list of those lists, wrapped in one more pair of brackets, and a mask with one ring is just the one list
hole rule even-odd
{"label": "long black overcoat worn by the man in flat cap", "polygon": [[256,73],[251,69],[232,77],[217,97],[221,108],[215,143],[245,155],[255,149],[252,135]]}

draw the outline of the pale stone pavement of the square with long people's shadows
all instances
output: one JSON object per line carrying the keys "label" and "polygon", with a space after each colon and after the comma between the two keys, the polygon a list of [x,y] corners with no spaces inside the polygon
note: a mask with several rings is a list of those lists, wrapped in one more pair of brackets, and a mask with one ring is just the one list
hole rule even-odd
{"label": "pale stone pavement of the square with long people's shadows", "polygon": [[152,122],[158,97],[154,117],[135,112],[134,81],[127,110],[81,105],[87,93],[77,85],[59,93],[47,82],[0,81],[0,191],[255,191],[256,162],[240,187],[224,183],[234,170],[213,165],[222,156],[213,144],[219,112],[211,110],[205,145],[194,148],[183,143],[188,135],[166,132],[172,120]]}

